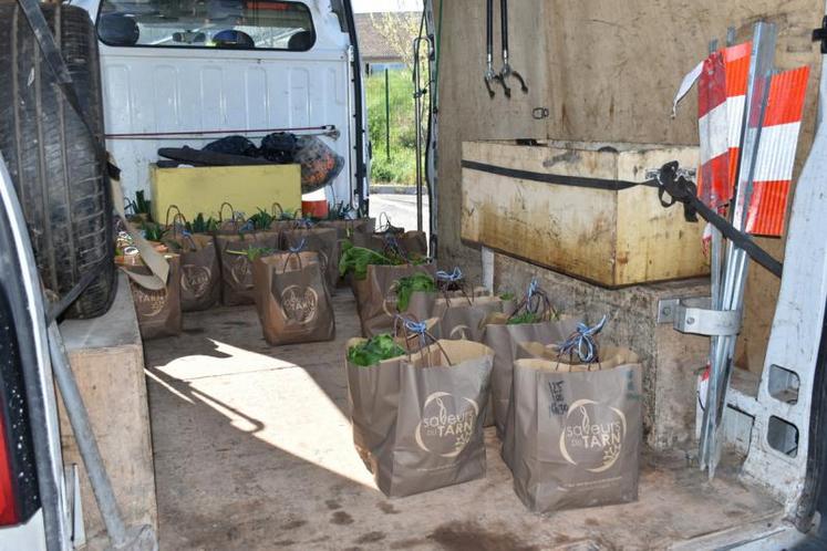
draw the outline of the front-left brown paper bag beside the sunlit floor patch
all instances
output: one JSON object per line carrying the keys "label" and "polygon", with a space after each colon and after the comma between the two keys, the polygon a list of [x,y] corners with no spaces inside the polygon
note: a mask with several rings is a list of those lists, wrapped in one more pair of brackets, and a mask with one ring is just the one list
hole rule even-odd
{"label": "front-left brown paper bag beside the sunlit floor patch", "polygon": [[370,454],[382,492],[411,496],[485,476],[493,360],[487,346],[468,341],[438,341],[403,356],[395,419]]}

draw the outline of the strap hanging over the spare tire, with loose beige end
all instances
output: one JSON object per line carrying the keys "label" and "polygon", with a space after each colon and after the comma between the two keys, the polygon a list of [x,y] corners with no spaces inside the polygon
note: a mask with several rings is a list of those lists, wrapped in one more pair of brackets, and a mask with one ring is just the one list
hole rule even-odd
{"label": "strap hanging over the spare tire, with loose beige end", "polygon": [[[141,253],[141,258],[144,260],[146,266],[152,271],[152,276],[142,276],[137,273],[127,272],[137,284],[149,290],[161,290],[166,287],[166,281],[169,276],[169,266],[166,259],[159,254],[146,239],[144,239],[141,231],[136,230],[127,220],[126,214],[124,212],[123,205],[123,191],[121,190],[121,181],[118,179],[120,169],[110,162],[108,152],[106,152],[106,145],[103,142],[103,137],[95,134],[94,128],[89,123],[90,118],[77,96],[77,91],[74,87],[74,82],[66,67],[63,56],[61,55],[60,48],[52,31],[49,29],[49,23],[43,17],[43,12],[40,10],[40,3],[37,0],[18,0],[20,9],[23,11],[29,25],[32,28],[40,50],[43,53],[45,64],[54,74],[58,86],[66,100],[66,103],[77,114],[83,125],[86,127],[92,143],[95,146],[95,155],[97,156],[101,166],[105,166],[108,173],[108,181],[111,188],[112,201],[115,205],[117,215],[124,222],[130,236],[135,243],[135,247]],[[105,258],[93,269],[86,271],[81,280],[65,294],[61,300],[52,305],[49,311],[48,319],[50,321],[60,316],[76,299],[81,293],[103,272],[106,268],[106,263],[111,259]]]}

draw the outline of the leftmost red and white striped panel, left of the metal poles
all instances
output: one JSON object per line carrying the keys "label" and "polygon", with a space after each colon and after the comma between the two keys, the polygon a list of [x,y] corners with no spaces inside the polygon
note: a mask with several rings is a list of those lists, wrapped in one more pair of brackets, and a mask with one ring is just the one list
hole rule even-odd
{"label": "leftmost red and white striped panel, left of the metal poles", "polygon": [[701,144],[701,169],[697,196],[712,208],[728,200],[730,118],[726,105],[724,56],[712,53],[703,62],[697,81],[697,129]]}

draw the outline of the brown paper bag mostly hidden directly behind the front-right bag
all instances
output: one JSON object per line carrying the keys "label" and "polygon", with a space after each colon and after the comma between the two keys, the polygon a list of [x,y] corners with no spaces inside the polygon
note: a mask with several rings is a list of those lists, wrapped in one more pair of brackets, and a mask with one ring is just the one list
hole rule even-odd
{"label": "brown paper bag mostly hidden directly behind the front-right bag", "polygon": [[[483,332],[483,343],[490,346],[495,352],[494,371],[492,373],[492,403],[494,406],[494,423],[500,439],[505,434],[506,419],[508,418],[511,371],[514,360],[517,357],[517,343],[528,341],[548,344],[560,343],[577,326],[577,320],[575,319],[508,325],[506,323],[507,318],[507,314],[497,315],[495,313],[489,315],[487,322],[496,319],[500,323],[488,323]],[[508,464],[508,460],[506,460],[506,464]]]}

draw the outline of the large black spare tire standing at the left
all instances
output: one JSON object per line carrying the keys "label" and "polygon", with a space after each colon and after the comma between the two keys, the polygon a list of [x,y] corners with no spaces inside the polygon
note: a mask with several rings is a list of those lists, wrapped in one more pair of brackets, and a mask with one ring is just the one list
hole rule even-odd
{"label": "large black spare tire standing at the left", "polygon": [[113,211],[105,166],[97,39],[89,13],[41,4],[95,136],[55,84],[25,15],[0,0],[0,152],[23,208],[45,289],[66,294],[99,270],[66,311],[105,313],[115,295]]}

